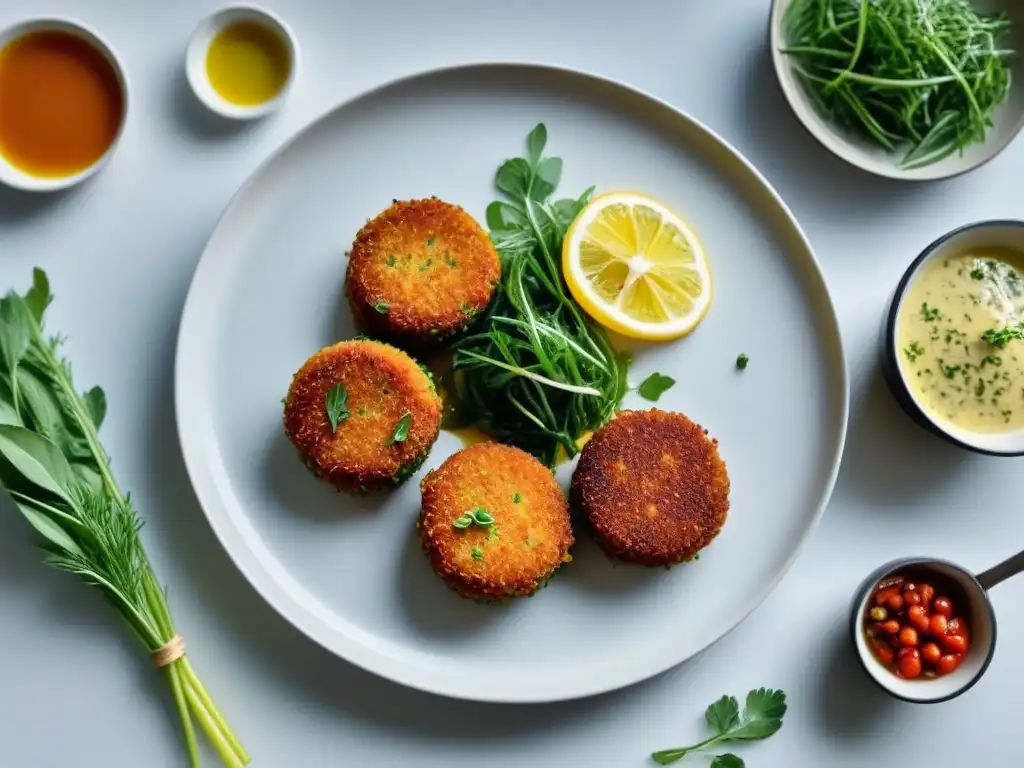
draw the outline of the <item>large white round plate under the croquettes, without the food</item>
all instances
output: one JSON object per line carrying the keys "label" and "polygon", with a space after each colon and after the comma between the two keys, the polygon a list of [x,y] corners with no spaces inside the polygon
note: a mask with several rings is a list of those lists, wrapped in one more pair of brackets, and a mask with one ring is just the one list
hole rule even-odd
{"label": "large white round plate under the croquettes, without the food", "polygon": [[[731,511],[699,561],[615,566],[578,531],[575,559],[530,599],[477,604],[431,572],[418,480],[459,446],[442,433],[389,496],[339,495],[282,431],[291,376],[356,334],[345,252],[392,199],[431,195],[483,220],[494,174],[538,122],[564,160],[559,191],[643,190],[698,233],[715,301],[690,337],[636,348],[634,384],[720,441]],[[736,355],[750,355],[739,372]],[[227,207],[189,289],[176,412],[188,473],[238,567],[282,615],[399,683],[493,701],[550,701],[655,675],[715,642],[781,579],[821,515],[846,433],[836,313],[811,248],[767,181],[708,128],[624,85],[527,65],[400,80],[330,112]],[[631,393],[629,408],[650,403]],[[571,467],[562,467],[567,480]],[[342,695],[342,694],[339,694]]]}

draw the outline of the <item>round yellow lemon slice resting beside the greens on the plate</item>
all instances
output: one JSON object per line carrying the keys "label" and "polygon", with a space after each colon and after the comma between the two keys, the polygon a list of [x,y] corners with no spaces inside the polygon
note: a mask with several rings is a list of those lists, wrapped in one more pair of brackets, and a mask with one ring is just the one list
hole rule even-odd
{"label": "round yellow lemon slice resting beside the greens on the plate", "polygon": [[696,234],[636,193],[602,195],[580,212],[562,244],[562,271],[588,314],[635,339],[685,336],[711,306],[711,269]]}

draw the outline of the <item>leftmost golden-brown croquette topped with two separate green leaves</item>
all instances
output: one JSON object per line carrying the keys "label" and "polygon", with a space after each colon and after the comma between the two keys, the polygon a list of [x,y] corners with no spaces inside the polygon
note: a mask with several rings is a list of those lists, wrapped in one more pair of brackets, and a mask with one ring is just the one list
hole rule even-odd
{"label": "leftmost golden-brown croquette topped with two separate green leaves", "polygon": [[285,398],[289,439],[314,474],[341,490],[404,482],[427,458],[440,423],[430,376],[406,352],[376,341],[321,349]]}

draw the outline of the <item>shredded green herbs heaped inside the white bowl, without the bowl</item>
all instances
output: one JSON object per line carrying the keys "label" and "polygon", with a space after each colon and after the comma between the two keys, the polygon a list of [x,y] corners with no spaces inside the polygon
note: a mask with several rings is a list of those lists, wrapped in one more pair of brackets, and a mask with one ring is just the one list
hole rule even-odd
{"label": "shredded green herbs heaped inside the white bowl, without the bowl", "polygon": [[783,52],[826,118],[908,170],[985,140],[1010,90],[1009,29],[968,0],[793,0]]}

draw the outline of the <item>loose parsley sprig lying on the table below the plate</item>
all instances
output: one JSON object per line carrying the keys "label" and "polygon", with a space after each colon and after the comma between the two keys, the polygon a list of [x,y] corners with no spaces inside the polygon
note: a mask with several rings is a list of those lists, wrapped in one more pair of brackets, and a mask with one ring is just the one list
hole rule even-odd
{"label": "loose parsley sprig lying on the table below the plate", "polygon": [[[746,694],[740,712],[735,696],[725,695],[705,712],[705,720],[714,734],[692,746],[662,750],[651,755],[658,765],[670,765],[693,752],[702,752],[723,741],[753,741],[775,733],[782,727],[785,693],[773,688],[755,688]],[[743,761],[731,753],[716,755],[713,768],[743,768]]]}

